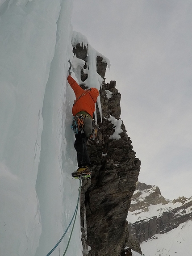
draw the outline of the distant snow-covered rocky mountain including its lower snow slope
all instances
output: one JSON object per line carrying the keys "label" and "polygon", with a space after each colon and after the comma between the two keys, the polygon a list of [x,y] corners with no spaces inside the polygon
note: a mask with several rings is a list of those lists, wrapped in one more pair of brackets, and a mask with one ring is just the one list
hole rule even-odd
{"label": "distant snow-covered rocky mountain including its lower snow slope", "polygon": [[[184,252],[187,246],[184,241],[187,239],[182,240],[182,237],[191,237],[186,232],[192,231],[192,197],[179,197],[171,201],[161,195],[157,186],[137,182],[129,208],[128,222],[132,237],[129,247],[135,251],[140,252],[133,239],[141,243],[143,255],[172,256],[179,250]],[[178,241],[175,237],[178,237]],[[166,239],[169,240],[168,243]],[[174,252],[170,251],[169,247]],[[191,251],[183,255],[191,256]]]}

